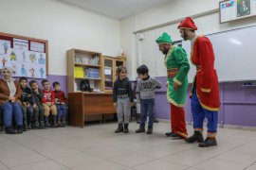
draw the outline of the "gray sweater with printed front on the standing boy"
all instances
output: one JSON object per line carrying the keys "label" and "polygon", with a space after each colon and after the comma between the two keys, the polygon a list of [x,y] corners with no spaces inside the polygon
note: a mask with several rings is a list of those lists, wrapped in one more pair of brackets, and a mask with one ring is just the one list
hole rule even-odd
{"label": "gray sweater with printed front on the standing boy", "polygon": [[136,90],[139,93],[138,99],[155,98],[155,89],[160,89],[161,87],[161,83],[155,77],[148,76],[145,79],[138,79]]}

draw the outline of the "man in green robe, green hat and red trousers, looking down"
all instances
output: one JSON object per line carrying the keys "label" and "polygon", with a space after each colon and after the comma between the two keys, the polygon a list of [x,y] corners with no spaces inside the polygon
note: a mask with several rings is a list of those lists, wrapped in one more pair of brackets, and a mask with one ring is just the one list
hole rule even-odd
{"label": "man in green robe, green hat and red trousers, looking down", "polygon": [[164,63],[167,68],[167,99],[171,103],[172,131],[167,132],[166,136],[186,139],[188,133],[183,106],[189,84],[190,63],[186,51],[182,47],[175,46],[166,32],[155,42],[158,44],[159,50],[165,55]]}

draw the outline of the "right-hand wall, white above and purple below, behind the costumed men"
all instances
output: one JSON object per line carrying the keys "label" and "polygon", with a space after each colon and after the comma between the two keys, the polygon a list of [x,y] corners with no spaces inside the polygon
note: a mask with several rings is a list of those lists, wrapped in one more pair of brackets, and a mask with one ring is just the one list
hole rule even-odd
{"label": "right-hand wall, white above and purple below, behind the costumed men", "polygon": [[[129,27],[130,29],[126,27],[126,32],[122,32],[121,48],[126,49],[124,52],[127,54],[131,53],[131,51],[136,51],[132,55],[133,60],[141,60],[141,63],[148,64],[150,66],[150,74],[156,76],[163,85],[166,82],[163,58],[157,61],[155,54],[147,53],[148,48],[152,48],[152,46],[144,45],[143,41],[138,43],[136,36],[130,37],[130,40],[135,41],[134,49],[126,48],[127,46],[132,47],[132,45],[129,41],[123,41],[123,35],[132,34],[132,32],[141,32],[145,35],[145,39],[147,39],[147,35],[160,35],[163,31],[168,30],[168,33],[171,33],[174,41],[181,40],[176,27],[179,21],[187,16],[196,16],[194,22],[198,27],[197,34],[199,35],[256,24],[256,17],[227,24],[219,24],[219,14],[217,12],[219,0],[194,0],[188,2],[187,0],[174,0],[165,5],[142,11],[121,21],[121,29],[124,26],[133,26]],[[155,38],[157,35],[155,35]],[[141,59],[137,59],[137,57]],[[137,64],[137,62],[130,62],[130,64],[132,63]],[[133,73],[130,77],[135,79],[137,76],[137,65],[133,66],[133,68],[134,70],[128,71]],[[243,87],[243,83],[244,82],[226,82],[219,84],[221,100],[219,123],[221,125],[256,127],[256,87]],[[189,92],[190,87],[187,94],[185,110],[186,121],[191,122],[192,112]],[[166,99],[166,88],[157,91],[155,94],[155,113],[156,117],[160,119],[170,120],[170,106]]]}

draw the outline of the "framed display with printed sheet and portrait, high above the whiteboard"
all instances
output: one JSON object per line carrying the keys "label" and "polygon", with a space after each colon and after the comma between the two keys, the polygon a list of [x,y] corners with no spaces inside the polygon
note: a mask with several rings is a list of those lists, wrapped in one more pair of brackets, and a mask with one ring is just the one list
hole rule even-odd
{"label": "framed display with printed sheet and portrait, high above the whiteboard", "polygon": [[256,15],[256,0],[228,0],[220,2],[220,23]]}

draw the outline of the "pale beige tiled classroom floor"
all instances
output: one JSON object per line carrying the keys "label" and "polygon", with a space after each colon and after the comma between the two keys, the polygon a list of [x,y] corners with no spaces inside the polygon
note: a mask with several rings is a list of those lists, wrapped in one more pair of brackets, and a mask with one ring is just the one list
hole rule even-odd
{"label": "pale beige tiled classroom floor", "polygon": [[[0,170],[256,170],[256,131],[219,128],[218,146],[199,148],[154,134],[115,134],[116,124],[29,130],[0,134]],[[192,134],[192,127],[188,127]]]}

